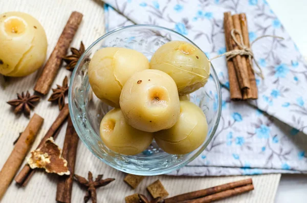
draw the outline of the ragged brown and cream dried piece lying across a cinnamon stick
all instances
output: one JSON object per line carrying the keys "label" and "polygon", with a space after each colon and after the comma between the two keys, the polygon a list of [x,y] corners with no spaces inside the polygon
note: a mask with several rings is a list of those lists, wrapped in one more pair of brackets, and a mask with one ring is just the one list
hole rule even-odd
{"label": "ragged brown and cream dried piece lying across a cinnamon stick", "polygon": [[70,175],[67,161],[61,156],[61,152],[51,137],[40,148],[31,151],[28,164],[32,169],[43,168],[47,173]]}

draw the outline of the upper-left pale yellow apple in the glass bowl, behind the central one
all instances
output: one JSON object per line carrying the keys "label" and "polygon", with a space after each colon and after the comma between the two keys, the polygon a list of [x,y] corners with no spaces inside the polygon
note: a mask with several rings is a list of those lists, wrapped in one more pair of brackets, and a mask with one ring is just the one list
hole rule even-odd
{"label": "upper-left pale yellow apple in the glass bowl, behind the central one", "polygon": [[89,64],[89,80],[95,95],[119,107],[121,90],[128,78],[149,69],[148,59],[140,52],[117,47],[98,50]]}

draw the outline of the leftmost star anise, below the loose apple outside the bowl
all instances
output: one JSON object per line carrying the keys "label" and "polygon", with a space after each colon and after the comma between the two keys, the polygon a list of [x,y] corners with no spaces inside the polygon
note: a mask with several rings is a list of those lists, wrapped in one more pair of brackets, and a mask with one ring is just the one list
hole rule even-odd
{"label": "leftmost star anise, below the loose apple outside the bowl", "polygon": [[26,116],[29,116],[31,108],[34,108],[33,103],[38,102],[39,99],[40,99],[39,96],[36,95],[31,96],[29,91],[27,91],[26,94],[24,94],[24,92],[21,93],[21,95],[17,93],[17,99],[8,101],[7,103],[10,104],[11,106],[15,106],[14,109],[15,114],[18,114],[21,111],[23,111]]}

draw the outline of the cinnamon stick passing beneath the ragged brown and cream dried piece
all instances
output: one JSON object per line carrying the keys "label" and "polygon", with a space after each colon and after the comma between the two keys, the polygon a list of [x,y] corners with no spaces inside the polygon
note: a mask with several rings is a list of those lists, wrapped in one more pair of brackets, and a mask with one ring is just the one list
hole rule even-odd
{"label": "cinnamon stick passing beneath the ragged brown and cream dried piece", "polygon": [[[55,121],[53,122],[47,133],[45,134],[45,137],[41,139],[36,149],[41,147],[48,138],[50,137],[53,137],[54,139],[56,138],[57,133],[60,130],[60,127],[62,126],[68,115],[69,115],[69,109],[68,109],[68,104],[66,104],[59,112],[58,117],[55,119]],[[16,175],[15,182],[20,186],[25,187],[35,171],[36,170],[31,169],[30,166],[26,164],[24,168]]]}

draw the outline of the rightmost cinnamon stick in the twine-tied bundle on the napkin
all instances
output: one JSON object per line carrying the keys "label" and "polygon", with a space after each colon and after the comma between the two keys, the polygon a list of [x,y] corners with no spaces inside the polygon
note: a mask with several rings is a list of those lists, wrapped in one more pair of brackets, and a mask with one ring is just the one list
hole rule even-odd
{"label": "rightmost cinnamon stick in the twine-tied bundle on the napkin", "polygon": [[[245,46],[250,48],[250,41],[249,41],[249,35],[248,35],[248,26],[247,26],[247,18],[245,13],[239,14],[240,24],[241,24],[241,31],[242,31],[242,37]],[[252,69],[250,60],[247,56],[246,57],[246,64],[247,64],[247,73],[248,73],[248,79],[250,81],[250,89],[246,89],[243,93],[243,99],[258,99],[258,88],[256,84],[255,79],[255,73]]]}

